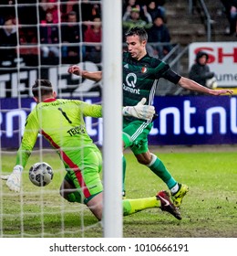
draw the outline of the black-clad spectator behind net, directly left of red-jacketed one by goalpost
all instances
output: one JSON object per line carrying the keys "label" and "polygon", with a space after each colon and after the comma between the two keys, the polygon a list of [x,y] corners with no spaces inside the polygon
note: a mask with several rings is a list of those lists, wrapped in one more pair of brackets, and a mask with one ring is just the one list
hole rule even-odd
{"label": "black-clad spectator behind net, directly left of red-jacketed one by goalpost", "polygon": [[[71,11],[67,15],[67,24],[62,25],[61,37],[62,43],[62,60],[63,63],[78,63],[84,58],[84,51],[79,47],[79,42],[81,42],[81,30],[77,24],[77,13]],[[72,45],[73,44],[73,45]]]}

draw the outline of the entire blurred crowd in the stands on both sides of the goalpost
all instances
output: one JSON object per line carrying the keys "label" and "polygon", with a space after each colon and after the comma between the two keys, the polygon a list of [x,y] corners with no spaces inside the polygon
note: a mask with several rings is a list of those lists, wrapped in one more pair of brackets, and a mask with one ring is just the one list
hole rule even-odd
{"label": "entire blurred crowd in the stands on both sides of the goalpost", "polygon": [[[170,51],[165,0],[121,0],[123,30],[145,27],[149,54],[162,58]],[[101,62],[101,1],[1,0],[0,66],[17,61],[27,66]],[[168,45],[157,46],[157,43]],[[153,45],[152,45],[153,43]]]}

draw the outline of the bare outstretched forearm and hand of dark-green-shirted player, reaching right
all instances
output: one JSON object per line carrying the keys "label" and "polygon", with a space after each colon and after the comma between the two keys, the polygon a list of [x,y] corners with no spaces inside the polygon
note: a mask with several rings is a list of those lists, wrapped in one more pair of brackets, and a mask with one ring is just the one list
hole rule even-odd
{"label": "bare outstretched forearm and hand of dark-green-shirted player, reaching right", "polygon": [[204,87],[201,84],[195,82],[194,80],[190,80],[184,77],[180,78],[180,81],[178,83],[182,88],[191,90],[191,91],[197,91],[201,93],[206,93],[214,96],[219,96],[222,94],[231,94],[233,93],[232,90],[212,90],[210,88]]}

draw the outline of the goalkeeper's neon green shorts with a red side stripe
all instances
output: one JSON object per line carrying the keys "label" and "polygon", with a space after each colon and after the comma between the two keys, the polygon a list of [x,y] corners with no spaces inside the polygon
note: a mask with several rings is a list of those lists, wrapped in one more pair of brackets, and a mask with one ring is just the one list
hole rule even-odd
{"label": "goalkeeper's neon green shorts with a red side stripe", "polygon": [[[80,154],[81,152],[78,153],[78,155]],[[103,185],[99,176],[102,170],[102,156],[97,147],[85,147],[83,155],[84,157],[79,160],[79,163],[77,158],[70,159],[79,169],[74,168],[74,171],[72,171],[70,166],[66,165],[67,175],[65,179],[69,184],[77,188],[81,202],[87,203],[92,197],[103,191]]]}

